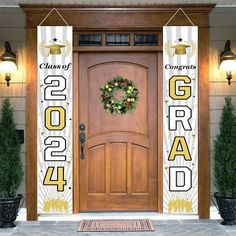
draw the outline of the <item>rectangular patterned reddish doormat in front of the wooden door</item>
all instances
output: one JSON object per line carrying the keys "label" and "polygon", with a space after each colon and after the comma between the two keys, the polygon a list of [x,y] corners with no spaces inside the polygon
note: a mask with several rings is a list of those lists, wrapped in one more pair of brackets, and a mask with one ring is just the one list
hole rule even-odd
{"label": "rectangular patterned reddish doormat in front of the wooden door", "polygon": [[151,220],[82,220],[80,232],[143,232],[155,231]]}

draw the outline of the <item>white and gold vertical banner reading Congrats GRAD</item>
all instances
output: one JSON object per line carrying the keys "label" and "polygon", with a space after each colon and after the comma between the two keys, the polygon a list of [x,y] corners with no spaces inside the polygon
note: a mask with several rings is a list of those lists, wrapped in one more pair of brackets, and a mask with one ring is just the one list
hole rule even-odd
{"label": "white and gold vertical banner reading Congrats GRAD", "polygon": [[198,213],[198,27],[163,27],[163,210]]}

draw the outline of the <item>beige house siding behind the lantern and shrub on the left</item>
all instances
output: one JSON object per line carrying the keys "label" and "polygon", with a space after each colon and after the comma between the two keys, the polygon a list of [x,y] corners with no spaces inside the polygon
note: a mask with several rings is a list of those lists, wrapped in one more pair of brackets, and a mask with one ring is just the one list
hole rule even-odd
{"label": "beige house siding behind the lantern and shrub on the left", "polygon": [[[20,8],[0,8],[0,55],[4,52],[4,42],[10,41],[12,50],[17,52],[17,72],[12,75],[10,87],[6,86],[4,74],[0,72],[0,105],[9,97],[14,109],[17,129],[26,127],[26,50],[25,14]],[[26,172],[25,142],[21,148],[21,158]],[[25,195],[25,174],[19,192]]]}

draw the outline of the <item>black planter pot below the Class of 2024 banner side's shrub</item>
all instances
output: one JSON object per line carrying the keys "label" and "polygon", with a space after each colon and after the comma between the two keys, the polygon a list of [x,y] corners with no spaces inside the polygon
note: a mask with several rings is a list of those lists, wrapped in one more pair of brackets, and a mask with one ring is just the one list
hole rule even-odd
{"label": "black planter pot below the Class of 2024 banner side's shrub", "polygon": [[16,226],[14,221],[21,208],[20,202],[22,199],[21,206],[24,203],[22,194],[18,194],[15,198],[0,198],[0,228],[12,228]]}

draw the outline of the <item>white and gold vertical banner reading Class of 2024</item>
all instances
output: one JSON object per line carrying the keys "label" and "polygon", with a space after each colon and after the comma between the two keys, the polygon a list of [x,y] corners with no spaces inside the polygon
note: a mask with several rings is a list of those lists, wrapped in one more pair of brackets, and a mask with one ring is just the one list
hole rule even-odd
{"label": "white and gold vertical banner reading Class of 2024", "polygon": [[72,27],[38,26],[38,214],[72,213]]}

